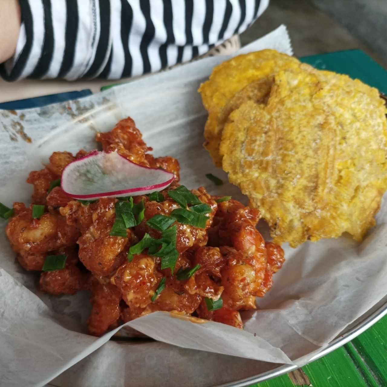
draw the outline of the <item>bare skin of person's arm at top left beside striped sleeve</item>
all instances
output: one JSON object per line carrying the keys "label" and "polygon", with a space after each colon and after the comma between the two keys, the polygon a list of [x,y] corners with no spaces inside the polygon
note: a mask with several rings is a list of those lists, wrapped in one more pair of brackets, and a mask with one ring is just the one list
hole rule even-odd
{"label": "bare skin of person's arm at top left beside striped sleeve", "polygon": [[19,31],[19,1],[2,0],[0,3],[0,63],[14,55]]}

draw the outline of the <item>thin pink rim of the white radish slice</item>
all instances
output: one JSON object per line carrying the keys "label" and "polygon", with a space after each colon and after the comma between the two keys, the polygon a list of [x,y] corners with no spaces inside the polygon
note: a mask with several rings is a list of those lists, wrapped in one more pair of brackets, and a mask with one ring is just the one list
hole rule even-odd
{"label": "thin pink rim of the white radish slice", "polygon": [[[130,194],[131,192],[141,192],[141,191],[146,191],[146,190],[152,190],[152,189],[156,189],[156,188],[166,188],[168,187],[168,185],[170,185],[173,180],[175,180],[175,175],[172,173],[172,172],[168,172],[168,171],[165,171],[165,170],[161,170],[162,172],[168,174],[168,175],[172,175],[172,177],[170,178],[170,180],[167,180],[165,183],[158,183],[158,184],[153,184],[153,185],[145,185],[145,186],[142,186],[142,187],[135,187],[135,188],[129,188],[127,190],[118,190],[118,191],[110,191],[110,192],[102,192],[103,195],[99,195],[99,194],[88,194],[88,195],[73,195],[73,194],[70,194],[69,192],[65,191],[63,189],[63,174],[65,172],[65,170],[72,164],[72,163],[75,163],[77,161],[80,161],[80,160],[83,160],[83,159],[87,159],[91,156],[94,156],[98,154],[98,151],[95,150],[95,151],[92,151],[90,154],[87,154],[86,156],[83,156],[77,160],[74,160],[72,161],[70,164],[68,164],[67,166],[65,166],[65,168],[63,169],[63,172],[62,172],[62,176],[60,178],[60,186],[63,190],[63,192],[67,195],[67,196],[70,196],[74,199],[92,199],[92,198],[99,198],[99,197],[103,197],[103,196],[106,196],[106,195],[121,195],[121,194]],[[134,163],[133,161],[131,160],[128,160],[127,158],[123,157],[122,155],[120,155],[119,153],[117,153],[118,156],[122,157],[123,159],[125,159],[125,161],[127,161],[128,163],[132,163],[134,164],[135,166],[138,166],[140,168],[144,168],[146,170],[155,170],[155,171],[160,171],[159,168],[151,168],[151,167],[146,167],[144,165],[140,165],[140,164],[136,164]],[[141,189],[139,189],[141,188]]]}

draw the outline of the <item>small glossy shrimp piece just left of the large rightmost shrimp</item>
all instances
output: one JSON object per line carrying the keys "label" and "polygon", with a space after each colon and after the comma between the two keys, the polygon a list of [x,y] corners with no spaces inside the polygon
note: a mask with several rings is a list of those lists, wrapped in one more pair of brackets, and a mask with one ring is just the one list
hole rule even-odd
{"label": "small glossy shrimp piece just left of the large rightmost shrimp", "polygon": [[199,247],[192,259],[192,267],[200,268],[187,280],[185,290],[190,294],[199,294],[202,297],[218,300],[224,287],[220,286],[220,269],[225,260],[217,247]]}

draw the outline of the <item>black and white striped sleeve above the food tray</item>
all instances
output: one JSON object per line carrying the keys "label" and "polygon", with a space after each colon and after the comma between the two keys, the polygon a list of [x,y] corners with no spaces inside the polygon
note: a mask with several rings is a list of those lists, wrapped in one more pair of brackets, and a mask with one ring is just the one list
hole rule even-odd
{"label": "black and white striped sleeve above the food tray", "polygon": [[250,26],[269,0],[19,0],[6,80],[156,72],[202,55]]}

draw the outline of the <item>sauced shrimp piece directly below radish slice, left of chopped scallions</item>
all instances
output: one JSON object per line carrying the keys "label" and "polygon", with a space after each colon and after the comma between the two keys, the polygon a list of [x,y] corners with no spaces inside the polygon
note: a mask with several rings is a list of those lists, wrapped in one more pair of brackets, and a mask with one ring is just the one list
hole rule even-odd
{"label": "sauced shrimp piece directly below radish slice, left of chopped scallions", "polygon": [[131,240],[130,230],[127,230],[127,238],[110,235],[115,221],[115,202],[115,198],[105,197],[91,207],[94,209],[92,223],[77,241],[79,259],[95,276],[109,276],[126,260],[126,254],[122,252]]}

